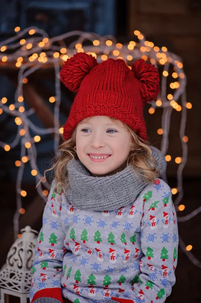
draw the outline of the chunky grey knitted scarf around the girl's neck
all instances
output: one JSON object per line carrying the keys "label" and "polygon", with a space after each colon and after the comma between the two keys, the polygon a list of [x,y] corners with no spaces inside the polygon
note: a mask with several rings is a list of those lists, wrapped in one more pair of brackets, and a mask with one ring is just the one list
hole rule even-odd
{"label": "chunky grey knitted scarf around the girl's neck", "polygon": [[[166,161],[161,151],[151,146],[156,168],[162,176]],[[112,211],[126,206],[138,196],[148,184],[138,167],[127,166],[111,176],[93,177],[80,160],[67,164],[69,185],[65,189],[66,199],[79,209]]]}

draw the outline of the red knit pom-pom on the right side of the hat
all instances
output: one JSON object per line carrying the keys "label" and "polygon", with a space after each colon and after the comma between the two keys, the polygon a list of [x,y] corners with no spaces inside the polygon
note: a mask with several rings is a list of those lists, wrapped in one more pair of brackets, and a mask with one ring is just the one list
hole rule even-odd
{"label": "red knit pom-pom on the right side of the hat", "polygon": [[145,60],[140,59],[132,65],[131,70],[140,83],[143,103],[154,100],[160,91],[158,69],[152,64],[145,63]]}

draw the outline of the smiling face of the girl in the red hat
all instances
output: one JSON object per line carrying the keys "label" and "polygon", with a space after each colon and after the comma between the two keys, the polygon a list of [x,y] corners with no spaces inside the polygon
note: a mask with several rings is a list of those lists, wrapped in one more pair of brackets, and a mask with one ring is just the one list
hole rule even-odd
{"label": "smiling face of the girl in the red hat", "polygon": [[[132,136],[121,121],[115,123],[106,116],[94,116],[78,124],[76,150],[80,161],[94,177],[112,175],[121,170],[127,160]],[[93,159],[106,156],[106,159]]]}

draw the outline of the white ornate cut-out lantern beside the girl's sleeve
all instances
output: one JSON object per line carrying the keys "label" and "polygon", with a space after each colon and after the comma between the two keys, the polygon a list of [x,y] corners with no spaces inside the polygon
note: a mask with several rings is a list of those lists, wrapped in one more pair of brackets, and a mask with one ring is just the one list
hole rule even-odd
{"label": "white ornate cut-out lantern beside the girl's sleeve", "polygon": [[21,234],[11,246],[6,264],[0,271],[2,303],[5,302],[5,294],[20,297],[20,303],[26,303],[29,297],[31,267],[35,259],[38,232],[26,226],[21,229]]}

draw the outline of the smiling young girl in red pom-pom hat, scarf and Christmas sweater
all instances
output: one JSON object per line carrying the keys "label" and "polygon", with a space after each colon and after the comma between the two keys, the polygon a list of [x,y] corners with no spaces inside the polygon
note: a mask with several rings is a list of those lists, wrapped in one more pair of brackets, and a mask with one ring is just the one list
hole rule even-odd
{"label": "smiling young girl in red pom-pom hat, scarf and Christmas sweater", "polygon": [[159,92],[144,60],[78,53],[60,72],[78,92],[55,158],[32,267],[31,303],[162,303],[175,284],[178,229],[166,161],[143,106]]}

